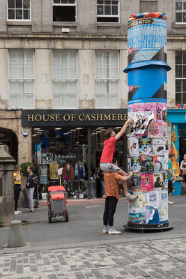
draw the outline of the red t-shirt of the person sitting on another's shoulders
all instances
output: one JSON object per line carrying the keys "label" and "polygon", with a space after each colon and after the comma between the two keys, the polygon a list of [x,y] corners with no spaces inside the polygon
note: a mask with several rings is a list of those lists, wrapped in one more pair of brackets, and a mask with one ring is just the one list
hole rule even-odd
{"label": "red t-shirt of the person sitting on another's shoulders", "polygon": [[115,149],[116,137],[111,137],[109,140],[105,140],[100,163],[112,163]]}

